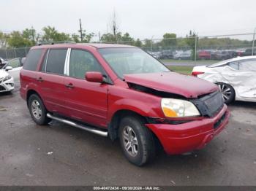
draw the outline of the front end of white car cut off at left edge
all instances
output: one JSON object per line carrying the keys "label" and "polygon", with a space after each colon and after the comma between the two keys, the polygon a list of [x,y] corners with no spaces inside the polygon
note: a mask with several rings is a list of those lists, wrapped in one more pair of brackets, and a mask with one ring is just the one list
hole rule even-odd
{"label": "front end of white car cut off at left edge", "polygon": [[10,92],[14,89],[13,77],[5,70],[0,70],[0,93]]}

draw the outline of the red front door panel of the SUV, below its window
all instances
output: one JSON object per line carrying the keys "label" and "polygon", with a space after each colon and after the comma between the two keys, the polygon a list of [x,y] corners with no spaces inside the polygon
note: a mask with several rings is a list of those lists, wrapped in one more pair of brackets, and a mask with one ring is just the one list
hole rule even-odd
{"label": "red front door panel of the SUV, below its window", "polygon": [[67,117],[107,128],[108,85],[64,77],[64,84],[69,83],[74,87],[65,88],[65,108],[69,111]]}

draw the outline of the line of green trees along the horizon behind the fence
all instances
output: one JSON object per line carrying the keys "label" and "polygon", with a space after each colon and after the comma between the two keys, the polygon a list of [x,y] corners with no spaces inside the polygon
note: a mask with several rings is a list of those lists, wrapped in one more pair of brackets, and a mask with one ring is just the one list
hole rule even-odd
{"label": "line of green trees along the horizon behind the fence", "polygon": [[[31,47],[35,44],[43,42],[95,42],[93,37],[96,34],[88,33],[87,31],[78,31],[76,34],[67,34],[56,30],[55,27],[45,26],[42,28],[42,33],[37,33],[37,31],[31,27],[26,28],[23,31],[12,31],[10,34],[4,34],[0,31],[0,47]],[[135,39],[130,36],[128,32],[122,33],[118,31],[115,20],[112,23],[112,30],[106,34],[98,35],[97,42],[102,43],[119,43],[119,44],[130,44],[136,47],[189,47],[190,49],[195,49],[195,44],[197,47],[238,47],[238,46],[249,46],[252,41],[240,40],[240,39],[230,39],[225,38],[198,38],[195,32],[189,31],[184,38],[177,38],[174,33],[165,33],[161,40],[154,41],[152,39]]]}

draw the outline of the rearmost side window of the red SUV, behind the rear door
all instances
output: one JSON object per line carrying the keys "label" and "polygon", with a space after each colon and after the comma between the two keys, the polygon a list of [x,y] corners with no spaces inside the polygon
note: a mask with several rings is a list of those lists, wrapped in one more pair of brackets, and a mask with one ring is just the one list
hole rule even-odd
{"label": "rearmost side window of the red SUV, behind the rear door", "polygon": [[42,49],[30,50],[24,63],[23,69],[36,71],[37,64],[42,55]]}

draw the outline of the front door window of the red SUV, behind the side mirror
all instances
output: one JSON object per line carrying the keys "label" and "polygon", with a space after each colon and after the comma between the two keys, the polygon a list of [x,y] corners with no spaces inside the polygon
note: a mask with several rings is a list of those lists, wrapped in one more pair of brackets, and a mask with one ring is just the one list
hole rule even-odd
{"label": "front door window of the red SUV, behind the side mirror", "polygon": [[85,78],[87,71],[103,72],[94,56],[85,50],[71,50],[69,58],[69,76]]}

